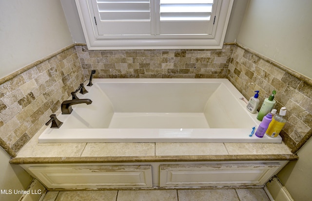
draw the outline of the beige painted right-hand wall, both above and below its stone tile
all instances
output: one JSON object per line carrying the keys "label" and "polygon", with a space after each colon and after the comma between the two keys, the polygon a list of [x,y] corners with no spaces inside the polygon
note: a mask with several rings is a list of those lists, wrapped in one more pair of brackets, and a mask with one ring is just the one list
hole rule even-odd
{"label": "beige painted right-hand wall, both above and below its stone tile", "polygon": [[[311,0],[250,0],[237,42],[312,78]],[[312,139],[277,175],[296,201],[312,198]]]}

